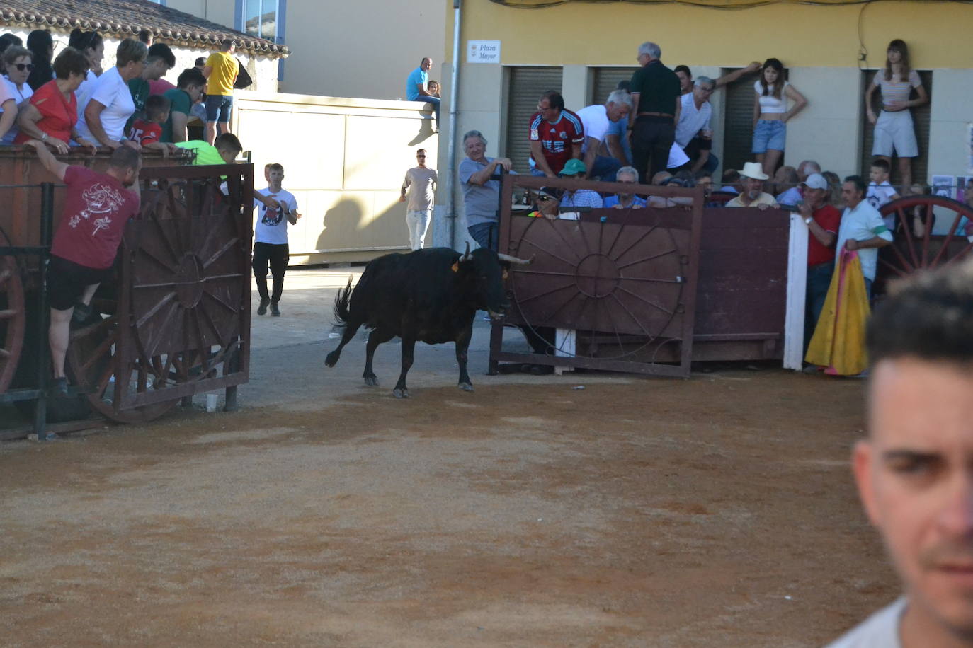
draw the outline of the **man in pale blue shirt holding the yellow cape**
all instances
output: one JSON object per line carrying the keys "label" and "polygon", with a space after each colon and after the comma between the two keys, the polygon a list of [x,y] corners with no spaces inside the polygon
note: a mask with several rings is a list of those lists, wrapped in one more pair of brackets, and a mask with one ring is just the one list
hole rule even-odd
{"label": "man in pale blue shirt holding the yellow cape", "polygon": [[841,262],[841,252],[857,250],[861,261],[861,273],[865,276],[865,290],[872,294],[872,282],[879,265],[879,248],[892,242],[892,233],[882,220],[879,210],[865,200],[865,181],[861,176],[848,176],[842,185],[842,198],[845,200],[845,213],[842,226],[838,229],[838,255],[835,263]]}

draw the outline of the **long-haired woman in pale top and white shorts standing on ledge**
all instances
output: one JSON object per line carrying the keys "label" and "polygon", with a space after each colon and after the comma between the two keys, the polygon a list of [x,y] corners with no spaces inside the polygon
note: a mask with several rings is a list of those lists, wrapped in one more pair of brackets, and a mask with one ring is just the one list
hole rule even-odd
{"label": "long-haired woman in pale top and white shorts standing on ledge", "polygon": [[[882,88],[882,113],[878,119],[872,110],[872,95]],[[916,99],[910,99],[916,88]],[[912,158],[919,155],[916,128],[909,109],[929,101],[919,74],[909,66],[909,48],[905,42],[895,39],[888,44],[885,68],[875,73],[871,85],[865,90],[865,107],[868,120],[875,124],[875,144],[872,154],[892,164],[892,153],[899,156],[900,182],[904,187],[912,185]]]}

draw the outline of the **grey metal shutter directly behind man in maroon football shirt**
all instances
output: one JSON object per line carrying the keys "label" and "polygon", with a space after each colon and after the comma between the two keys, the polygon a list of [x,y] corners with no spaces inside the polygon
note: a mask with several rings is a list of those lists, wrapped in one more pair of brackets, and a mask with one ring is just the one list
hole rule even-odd
{"label": "grey metal shutter directly behind man in maroon football shirt", "polygon": [[559,67],[510,68],[510,101],[507,104],[507,142],[504,153],[514,162],[518,173],[530,173],[530,141],[527,120],[537,112],[537,101],[548,90],[560,92]]}

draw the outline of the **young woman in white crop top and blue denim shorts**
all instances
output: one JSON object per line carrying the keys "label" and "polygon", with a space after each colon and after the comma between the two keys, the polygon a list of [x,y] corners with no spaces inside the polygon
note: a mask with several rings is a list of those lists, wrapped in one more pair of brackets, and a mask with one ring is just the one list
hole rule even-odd
{"label": "young woman in white crop top and blue denim shorts", "polygon": [[[776,58],[764,61],[753,89],[753,153],[763,165],[764,174],[773,177],[784,153],[785,124],[808,105],[808,100],[787,83],[784,66]],[[787,99],[794,102],[790,110]]]}

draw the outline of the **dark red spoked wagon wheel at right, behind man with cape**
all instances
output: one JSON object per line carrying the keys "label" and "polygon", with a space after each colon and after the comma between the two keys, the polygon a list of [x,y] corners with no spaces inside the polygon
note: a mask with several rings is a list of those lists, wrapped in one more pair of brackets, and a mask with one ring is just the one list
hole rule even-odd
{"label": "dark red spoked wagon wheel at right, behind man with cape", "polygon": [[[973,249],[966,238],[973,231],[957,233],[960,223],[973,222],[973,208],[961,202],[935,195],[908,196],[883,205],[880,212],[886,221],[888,217],[894,219],[895,231],[892,245],[879,254],[877,291],[881,292],[890,279],[953,263]],[[931,226],[921,225],[923,219]],[[923,230],[921,236],[917,235],[916,221]],[[933,234],[933,229],[946,234]]]}

